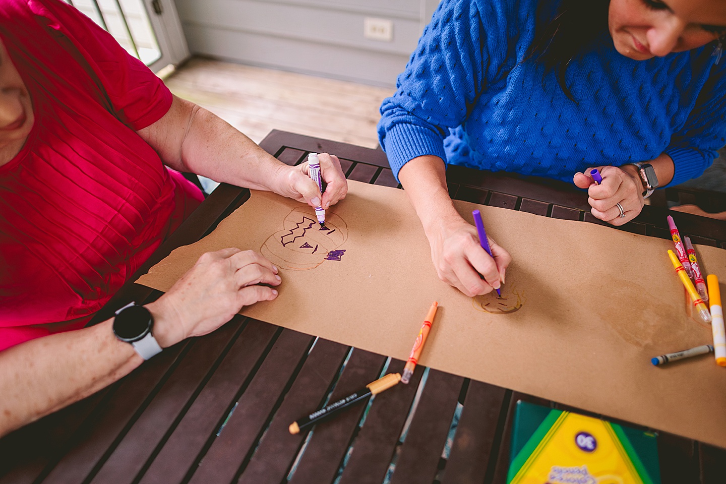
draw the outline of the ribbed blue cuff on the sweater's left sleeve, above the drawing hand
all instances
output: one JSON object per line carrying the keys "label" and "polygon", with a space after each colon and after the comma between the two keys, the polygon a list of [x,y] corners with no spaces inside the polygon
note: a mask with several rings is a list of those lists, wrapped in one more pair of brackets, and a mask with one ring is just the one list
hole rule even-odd
{"label": "ribbed blue cuff on the sweater's left sleeve, above the drawing hand", "polygon": [[399,171],[403,165],[415,157],[434,155],[446,163],[444,138],[429,128],[414,124],[396,124],[386,132],[383,140],[383,151],[388,156],[393,176],[399,180]]}

